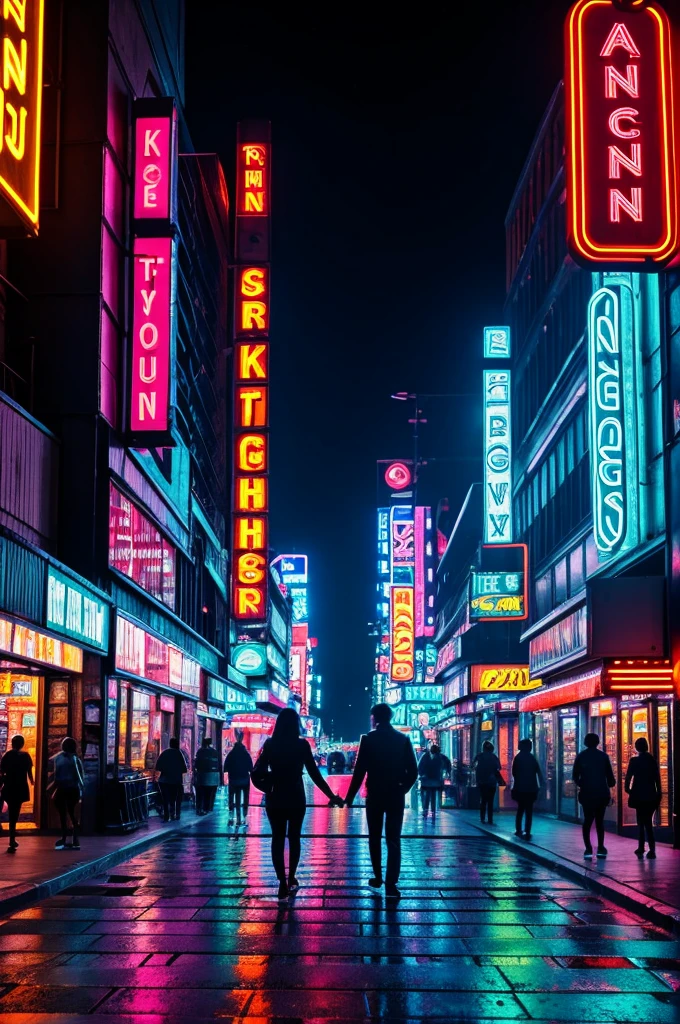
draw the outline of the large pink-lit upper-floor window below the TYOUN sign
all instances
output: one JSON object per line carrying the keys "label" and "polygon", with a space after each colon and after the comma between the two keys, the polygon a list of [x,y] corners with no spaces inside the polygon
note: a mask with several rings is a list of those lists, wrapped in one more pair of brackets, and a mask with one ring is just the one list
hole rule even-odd
{"label": "large pink-lit upper-floor window below the TYOUN sign", "polygon": [[174,610],[176,554],[154,523],[112,483],[109,507],[112,568]]}

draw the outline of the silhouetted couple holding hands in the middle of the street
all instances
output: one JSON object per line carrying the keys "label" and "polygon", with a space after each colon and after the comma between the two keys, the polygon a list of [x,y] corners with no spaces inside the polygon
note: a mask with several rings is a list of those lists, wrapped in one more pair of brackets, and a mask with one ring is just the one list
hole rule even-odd
{"label": "silhouetted couple holding hands in the middle of the street", "polygon": [[[366,817],[369,826],[369,851],[373,878],[369,885],[380,889],[382,872],[382,833],[387,842],[385,893],[398,897],[396,883],[401,866],[401,825],[407,793],[418,778],[416,756],[408,736],[390,725],[388,705],[376,705],[371,712],[375,729],[362,736],[346,804],[351,806],[364,779],[367,779]],[[336,796],[320,772],[311,748],[300,736],[300,719],[286,708],[277,719],[273,734],[262,746],[253,769],[253,784],[265,796],[265,808],[271,825],[271,860],[279,880],[279,899],[296,892],[296,871],[300,862],[302,822],[306,811],[303,770],[314,785],[328,797],[332,806],[345,801]],[[285,845],[288,830],[289,865],[286,872]]]}

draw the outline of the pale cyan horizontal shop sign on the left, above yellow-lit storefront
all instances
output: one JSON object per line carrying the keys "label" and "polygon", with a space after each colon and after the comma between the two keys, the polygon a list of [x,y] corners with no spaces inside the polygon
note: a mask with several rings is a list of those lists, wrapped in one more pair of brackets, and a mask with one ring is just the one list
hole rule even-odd
{"label": "pale cyan horizontal shop sign on the left, above yellow-lit storefront", "polygon": [[50,565],[45,625],[57,633],[109,650],[109,605]]}

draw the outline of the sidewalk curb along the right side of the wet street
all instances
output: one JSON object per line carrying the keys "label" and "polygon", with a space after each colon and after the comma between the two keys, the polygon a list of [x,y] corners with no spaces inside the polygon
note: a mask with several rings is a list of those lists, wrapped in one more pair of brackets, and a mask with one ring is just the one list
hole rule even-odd
{"label": "sidewalk curb along the right side of the wet street", "polygon": [[473,824],[477,831],[496,840],[502,846],[514,850],[521,857],[526,857],[527,860],[533,860],[535,863],[541,864],[542,867],[549,867],[551,870],[562,874],[572,882],[579,882],[582,886],[592,890],[599,896],[606,896],[607,899],[610,899],[612,903],[615,903],[617,906],[622,907],[624,910],[631,910],[640,918],[649,921],[652,925],[657,925],[668,932],[680,935],[680,910],[676,907],[670,906],[668,903],[662,903],[660,900],[651,899],[645,896],[644,893],[631,888],[631,886],[617,882],[615,879],[601,874],[599,871],[594,871],[592,867],[587,867],[585,864],[576,864],[572,860],[567,860],[565,857],[548,854],[541,847],[533,846],[530,842],[518,842],[513,836],[504,836],[501,833],[492,831],[477,822],[470,822],[470,824]]}

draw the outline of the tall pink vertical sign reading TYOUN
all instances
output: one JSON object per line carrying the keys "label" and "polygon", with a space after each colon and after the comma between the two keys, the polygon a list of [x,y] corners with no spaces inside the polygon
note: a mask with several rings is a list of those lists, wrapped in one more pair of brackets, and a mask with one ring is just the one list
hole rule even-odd
{"label": "tall pink vertical sign reading TYOUN", "polygon": [[168,429],[172,239],[135,239],[130,429]]}

